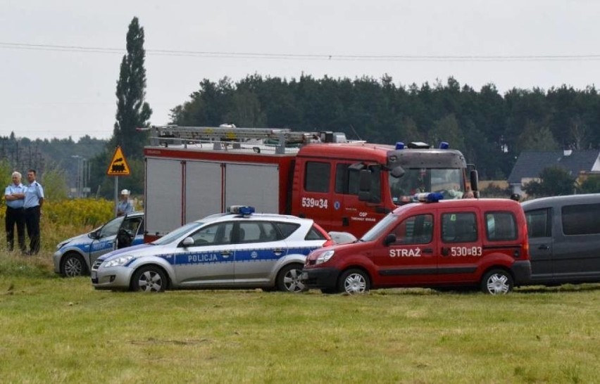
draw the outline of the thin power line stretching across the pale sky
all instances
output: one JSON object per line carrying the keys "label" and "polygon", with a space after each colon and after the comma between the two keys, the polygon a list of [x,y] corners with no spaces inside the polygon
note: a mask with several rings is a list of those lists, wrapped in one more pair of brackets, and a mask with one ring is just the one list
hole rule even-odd
{"label": "thin power line stretching across the pale sky", "polygon": [[[125,49],[97,46],[65,46],[55,44],[25,44],[0,41],[0,49],[30,51],[66,51],[77,53],[125,54]],[[199,58],[237,58],[267,60],[332,60],[332,61],[420,61],[420,62],[501,62],[501,61],[597,61],[600,54],[581,55],[327,55],[313,53],[251,53],[227,51],[180,51],[146,49],[149,56],[184,56]]]}

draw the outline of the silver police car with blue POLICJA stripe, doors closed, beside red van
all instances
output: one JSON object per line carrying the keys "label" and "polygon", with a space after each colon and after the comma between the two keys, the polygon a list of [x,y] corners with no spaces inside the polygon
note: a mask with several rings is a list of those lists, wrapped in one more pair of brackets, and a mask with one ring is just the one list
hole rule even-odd
{"label": "silver police car with blue POLICJA stripe, doors closed, beside red van", "polygon": [[163,292],[185,288],[263,288],[301,292],[304,260],[332,244],[311,219],[256,214],[233,206],[175,229],[157,241],[96,260],[96,289]]}

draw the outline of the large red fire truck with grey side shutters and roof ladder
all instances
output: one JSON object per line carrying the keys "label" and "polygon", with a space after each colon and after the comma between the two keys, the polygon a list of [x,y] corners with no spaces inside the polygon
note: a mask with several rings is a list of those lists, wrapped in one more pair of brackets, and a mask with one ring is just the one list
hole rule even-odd
{"label": "large red fire truck with grey side shutters and roof ladder", "polygon": [[[337,132],[151,127],[146,162],[146,241],[230,205],[310,217],[327,231],[361,236],[417,192],[461,198],[462,153],[446,143],[396,146]],[[477,190],[477,174],[470,174]]]}

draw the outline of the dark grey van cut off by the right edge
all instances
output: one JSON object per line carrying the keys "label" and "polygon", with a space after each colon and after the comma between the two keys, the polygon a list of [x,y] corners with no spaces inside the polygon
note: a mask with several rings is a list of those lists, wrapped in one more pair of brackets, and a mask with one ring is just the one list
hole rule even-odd
{"label": "dark grey van cut off by the right edge", "polygon": [[531,285],[600,282],[600,193],[525,201]]}

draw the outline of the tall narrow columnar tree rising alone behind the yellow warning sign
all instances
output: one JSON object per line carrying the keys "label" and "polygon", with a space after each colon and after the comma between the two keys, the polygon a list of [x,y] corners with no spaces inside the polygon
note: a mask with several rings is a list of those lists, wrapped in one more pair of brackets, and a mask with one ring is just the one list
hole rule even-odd
{"label": "tall narrow columnar tree rising alone behind the yellow warning sign", "polygon": [[142,158],[147,134],[137,127],[147,127],[152,115],[146,96],[146,69],[144,60],[144,28],[136,18],[131,20],[127,31],[127,54],[123,56],[117,82],[117,114],[113,137],[108,143],[112,153],[116,146],[123,149],[127,158]]}

